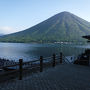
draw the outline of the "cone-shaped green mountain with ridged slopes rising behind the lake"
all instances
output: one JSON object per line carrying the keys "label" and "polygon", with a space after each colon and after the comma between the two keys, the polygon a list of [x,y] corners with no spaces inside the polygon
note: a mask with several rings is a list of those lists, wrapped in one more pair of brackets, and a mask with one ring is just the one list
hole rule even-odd
{"label": "cone-shaped green mountain with ridged slopes rising behind the lake", "polygon": [[90,34],[90,22],[69,13],[61,12],[24,31],[0,37],[5,42],[60,42],[83,41]]}

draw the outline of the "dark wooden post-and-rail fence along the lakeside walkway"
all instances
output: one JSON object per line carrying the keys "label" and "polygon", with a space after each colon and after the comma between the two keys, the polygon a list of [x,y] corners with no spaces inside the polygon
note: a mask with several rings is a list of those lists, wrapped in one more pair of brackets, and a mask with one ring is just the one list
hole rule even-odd
{"label": "dark wooden post-and-rail fence along the lakeside walkway", "polygon": [[[43,72],[44,66],[52,65],[52,67],[55,67],[56,64],[65,63],[64,58],[65,56],[62,53],[60,53],[59,55],[53,54],[51,57],[47,57],[47,58],[43,58],[43,56],[40,56],[39,59],[28,62],[23,62],[23,59],[19,59],[19,63],[13,65],[6,65],[2,67],[2,69],[5,71],[0,74],[1,77],[0,80],[1,81],[7,80],[5,76],[9,77],[10,75],[15,77],[18,76],[19,80],[22,80],[23,72],[25,70],[39,69],[40,72]],[[68,59],[67,61],[69,62]]]}

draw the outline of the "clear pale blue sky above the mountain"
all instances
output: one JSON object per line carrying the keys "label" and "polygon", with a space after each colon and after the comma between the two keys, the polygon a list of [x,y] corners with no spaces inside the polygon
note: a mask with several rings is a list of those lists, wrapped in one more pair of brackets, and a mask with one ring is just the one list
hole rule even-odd
{"label": "clear pale blue sky above the mountain", "polygon": [[90,22],[90,0],[0,0],[0,33],[25,30],[63,11]]}

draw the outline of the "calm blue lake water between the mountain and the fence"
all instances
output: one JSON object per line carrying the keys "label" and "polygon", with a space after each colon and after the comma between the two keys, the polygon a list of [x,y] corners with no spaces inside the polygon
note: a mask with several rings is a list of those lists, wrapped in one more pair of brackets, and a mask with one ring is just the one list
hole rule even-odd
{"label": "calm blue lake water between the mountain and the fence", "polygon": [[0,43],[0,57],[10,60],[34,60],[39,56],[48,57],[53,53],[63,52],[65,56],[77,56],[90,48],[89,44],[27,44],[27,43]]}

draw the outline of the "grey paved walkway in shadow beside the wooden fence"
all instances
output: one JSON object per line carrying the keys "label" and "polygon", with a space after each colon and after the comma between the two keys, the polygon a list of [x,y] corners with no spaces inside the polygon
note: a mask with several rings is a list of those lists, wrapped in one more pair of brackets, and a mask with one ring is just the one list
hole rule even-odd
{"label": "grey paved walkway in shadow beside the wooden fence", "polygon": [[90,67],[57,65],[23,80],[0,83],[0,90],[90,90]]}

